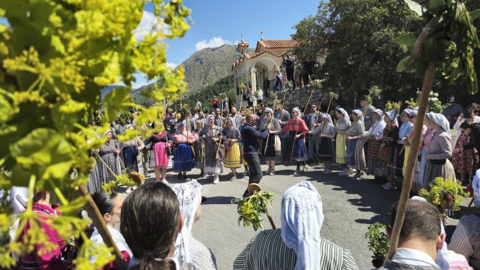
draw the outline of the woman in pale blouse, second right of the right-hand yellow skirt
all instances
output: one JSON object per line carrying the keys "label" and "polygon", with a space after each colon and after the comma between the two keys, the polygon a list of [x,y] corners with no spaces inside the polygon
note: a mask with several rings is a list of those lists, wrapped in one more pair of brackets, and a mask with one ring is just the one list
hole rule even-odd
{"label": "woman in pale blouse, second right of the right-hand yellow skirt", "polygon": [[363,140],[368,140],[368,160],[367,173],[374,175],[375,169],[378,167],[379,148],[381,139],[383,138],[383,129],[385,128],[385,121],[383,121],[383,112],[380,109],[375,109],[372,112],[372,118],[375,123],[368,131],[363,133]]}

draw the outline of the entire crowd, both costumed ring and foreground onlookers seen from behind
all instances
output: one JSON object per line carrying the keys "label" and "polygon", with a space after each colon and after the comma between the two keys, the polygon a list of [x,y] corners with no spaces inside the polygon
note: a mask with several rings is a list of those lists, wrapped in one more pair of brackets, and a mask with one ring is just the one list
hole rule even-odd
{"label": "entire crowd, both costumed ring and foreground onlookers seen from behind", "polygon": [[[418,108],[384,112],[369,100],[361,97],[360,108],[350,112],[337,106],[324,113],[322,104],[315,103],[291,110],[285,110],[283,104],[276,108],[260,106],[256,114],[253,108],[237,112],[235,106],[230,112],[217,107],[207,115],[197,110],[180,115],[167,110],[163,121],[147,127],[163,125],[165,130],[150,138],[136,137],[120,143],[117,138],[125,130],[141,127],[135,126],[134,117],[127,125],[118,119],[103,134],[106,143],[92,151],[96,164],[86,187],[129,269],[217,269],[213,251],[192,234],[206,200],[197,179],[211,175],[213,184],[217,184],[225,167],[231,172],[231,181],[248,175],[251,184],[259,183],[263,175],[275,175],[278,163],[291,165],[293,175],[309,170],[309,164],[323,164],[326,175],[334,170],[353,180],[374,175],[386,180],[383,188],[396,187],[398,178],[405,174],[405,157],[410,151]],[[429,188],[435,177],[455,181],[457,172],[466,182],[475,176],[475,204],[480,206],[480,170],[475,171],[478,112],[479,106],[472,103],[455,119],[453,128],[459,132],[453,144],[450,119],[444,114],[427,113],[413,193]],[[262,162],[267,164],[265,173]],[[195,180],[189,173],[193,168],[200,169]],[[155,179],[129,190],[125,201],[115,192],[100,191],[102,183],[114,180],[121,171],[147,173],[150,169]],[[165,175],[170,169],[176,172],[180,184],[167,182]],[[243,197],[248,195],[247,188]],[[16,212],[25,210],[28,199],[24,189],[12,188],[10,198]],[[36,193],[33,199],[34,210],[43,219],[61,214],[51,206],[48,192]],[[311,182],[300,182],[285,191],[281,205],[281,228],[257,234],[237,256],[234,269],[358,269],[348,249],[320,236],[322,197]],[[393,228],[395,212],[396,206],[389,228]],[[20,269],[68,269],[71,260],[63,255],[68,241],[48,222],[41,224],[54,245],[53,251],[38,255],[42,247],[35,247],[31,253],[22,254]],[[407,204],[399,248],[383,269],[470,269],[468,263],[479,269],[479,227],[480,217],[462,218],[447,249],[438,210],[413,197]],[[23,234],[28,230],[29,224]],[[86,235],[93,243],[104,243],[93,225]],[[91,262],[95,260],[95,255],[91,256]],[[104,269],[118,267],[112,261]]]}

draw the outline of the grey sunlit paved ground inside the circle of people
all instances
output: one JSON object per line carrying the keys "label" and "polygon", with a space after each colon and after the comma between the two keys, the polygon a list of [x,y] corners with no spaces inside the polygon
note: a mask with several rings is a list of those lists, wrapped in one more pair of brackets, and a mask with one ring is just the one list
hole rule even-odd
{"label": "grey sunlit paved ground inside the circle of people", "polygon": [[[267,169],[262,165],[263,171]],[[389,223],[389,209],[398,200],[399,191],[385,191],[380,182],[371,179],[350,180],[336,174],[324,175],[320,173],[320,167],[312,167],[311,171],[293,176],[293,165],[276,166],[276,175],[263,177],[261,186],[263,190],[275,194],[272,209],[274,223],[280,227],[280,201],[283,193],[300,181],[311,181],[322,196],[324,209],[324,224],[320,234],[341,247],[350,249],[357,261],[359,269],[371,269],[371,251],[368,250],[365,232],[368,225],[374,222]],[[240,169],[243,171],[243,169]],[[241,250],[256,234],[253,228],[238,225],[237,206],[230,204],[235,197],[241,197],[248,179],[228,180],[230,170],[224,170],[220,176],[219,184],[214,185],[213,179],[198,180],[202,184],[202,194],[208,197],[204,204],[202,218],[193,226],[193,236],[198,241],[210,247],[217,257],[219,269],[232,269],[232,262]],[[200,170],[189,173],[193,177]],[[149,177],[153,177],[152,173]],[[169,172],[167,180],[178,183],[176,175]],[[466,211],[465,206],[470,199],[464,199],[461,214],[473,212]],[[460,214],[448,219],[447,233],[452,233],[457,224]],[[265,217],[263,223],[265,229],[270,225]],[[449,239],[449,237],[448,237]]]}

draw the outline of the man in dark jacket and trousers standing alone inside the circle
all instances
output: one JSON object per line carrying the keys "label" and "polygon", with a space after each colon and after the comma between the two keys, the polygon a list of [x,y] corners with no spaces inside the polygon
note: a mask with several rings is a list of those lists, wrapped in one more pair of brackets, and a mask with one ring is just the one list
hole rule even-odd
{"label": "man in dark jacket and trousers standing alone inside the circle", "polygon": [[[260,167],[259,159],[259,139],[267,138],[271,123],[267,124],[267,129],[264,132],[256,131],[254,124],[256,120],[255,114],[247,114],[245,126],[241,130],[241,143],[243,145],[243,159],[248,163],[248,184],[260,183],[262,180],[262,168]],[[248,196],[248,187],[243,193],[243,197]]]}

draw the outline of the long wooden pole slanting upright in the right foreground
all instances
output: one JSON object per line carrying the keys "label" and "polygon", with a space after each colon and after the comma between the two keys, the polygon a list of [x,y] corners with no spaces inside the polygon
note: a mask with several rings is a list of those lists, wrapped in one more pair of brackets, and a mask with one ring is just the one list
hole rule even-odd
{"label": "long wooden pole slanting upright in the right foreground", "polygon": [[407,168],[405,170],[405,177],[403,178],[402,193],[400,194],[400,201],[398,202],[394,228],[392,230],[392,238],[390,239],[390,247],[387,255],[387,258],[389,259],[392,259],[392,256],[395,254],[398,245],[398,237],[400,236],[400,230],[402,229],[403,219],[405,217],[405,210],[407,208],[407,201],[409,199],[411,180],[413,176],[413,167],[418,156],[418,148],[420,147],[420,139],[422,138],[423,121],[425,118],[425,112],[427,112],[429,93],[432,88],[434,77],[435,64],[429,62],[429,66],[427,66],[427,71],[425,71],[425,77],[423,79],[417,121],[413,127],[413,141],[411,143],[409,156],[407,157]]}

